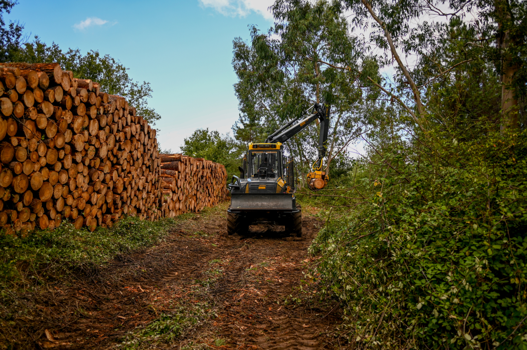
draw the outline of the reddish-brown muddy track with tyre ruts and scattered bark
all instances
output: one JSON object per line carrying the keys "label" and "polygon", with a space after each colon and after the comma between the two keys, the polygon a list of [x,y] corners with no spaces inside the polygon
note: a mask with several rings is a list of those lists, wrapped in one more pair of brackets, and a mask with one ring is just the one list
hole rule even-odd
{"label": "reddish-brown muddy track with tyre ruts and scattered bark", "polygon": [[265,223],[228,237],[225,205],[191,215],[158,246],[17,295],[30,312],[3,325],[12,334],[0,349],[341,348],[338,304],[302,282],[321,227],[303,216],[293,239]]}

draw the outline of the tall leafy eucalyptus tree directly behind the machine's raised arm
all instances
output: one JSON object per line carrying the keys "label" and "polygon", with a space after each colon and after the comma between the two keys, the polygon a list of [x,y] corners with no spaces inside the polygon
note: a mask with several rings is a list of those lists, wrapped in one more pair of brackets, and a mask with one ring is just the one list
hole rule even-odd
{"label": "tall leafy eucalyptus tree directly behind the machine's raised arm", "polygon": [[[338,6],[326,1],[282,5],[275,4],[276,23],[266,33],[251,28],[251,46],[235,40],[233,66],[239,79],[235,91],[242,111],[240,124],[243,129],[260,125],[260,138],[264,139],[279,124],[315,102],[325,101],[332,106],[327,170],[331,160],[364,131],[364,118],[357,114],[364,97],[356,83],[362,76],[338,68],[355,67],[360,47],[349,35]],[[376,74],[374,69],[372,75]],[[235,126],[236,135],[241,132]],[[318,128],[311,126],[287,142],[286,149],[297,157],[301,172],[311,166],[317,141]]]}

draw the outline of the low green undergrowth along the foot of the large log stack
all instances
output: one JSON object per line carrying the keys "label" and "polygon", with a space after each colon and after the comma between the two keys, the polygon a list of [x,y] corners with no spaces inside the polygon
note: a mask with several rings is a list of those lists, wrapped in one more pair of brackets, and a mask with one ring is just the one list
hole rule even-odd
{"label": "low green undergrowth along the foot of the large log stack", "polygon": [[0,235],[0,284],[40,283],[75,270],[89,271],[118,254],[162,239],[173,219],[150,222],[135,217],[119,220],[113,228],[76,230],[63,223],[55,230],[35,231],[26,238]]}

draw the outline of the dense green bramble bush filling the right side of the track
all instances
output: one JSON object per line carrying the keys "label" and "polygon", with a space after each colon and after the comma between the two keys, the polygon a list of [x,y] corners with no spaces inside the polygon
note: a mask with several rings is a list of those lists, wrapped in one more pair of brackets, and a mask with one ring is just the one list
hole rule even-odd
{"label": "dense green bramble bush filling the right side of the track", "polygon": [[527,134],[441,136],[381,153],[311,277],[358,348],[527,349]]}

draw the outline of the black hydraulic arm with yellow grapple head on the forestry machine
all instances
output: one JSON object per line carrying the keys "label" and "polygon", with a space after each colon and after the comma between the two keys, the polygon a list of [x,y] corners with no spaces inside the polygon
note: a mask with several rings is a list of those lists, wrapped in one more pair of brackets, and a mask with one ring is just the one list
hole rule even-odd
{"label": "black hydraulic arm with yellow grapple head on the forestry machine", "polygon": [[[281,142],[289,140],[300,131],[304,130],[311,122],[318,119],[320,121],[320,135],[318,138],[318,159],[313,163],[311,172],[307,174],[307,184],[309,189],[316,190],[324,188],[328,182],[328,177],[322,171],[322,162],[326,156],[328,129],[329,129],[329,105],[324,103],[314,104],[309,107],[304,114],[288,121],[280,129],[272,133],[266,142]],[[299,120],[309,114],[304,119]],[[297,122],[298,121],[298,122]],[[296,123],[295,123],[296,122]]]}

